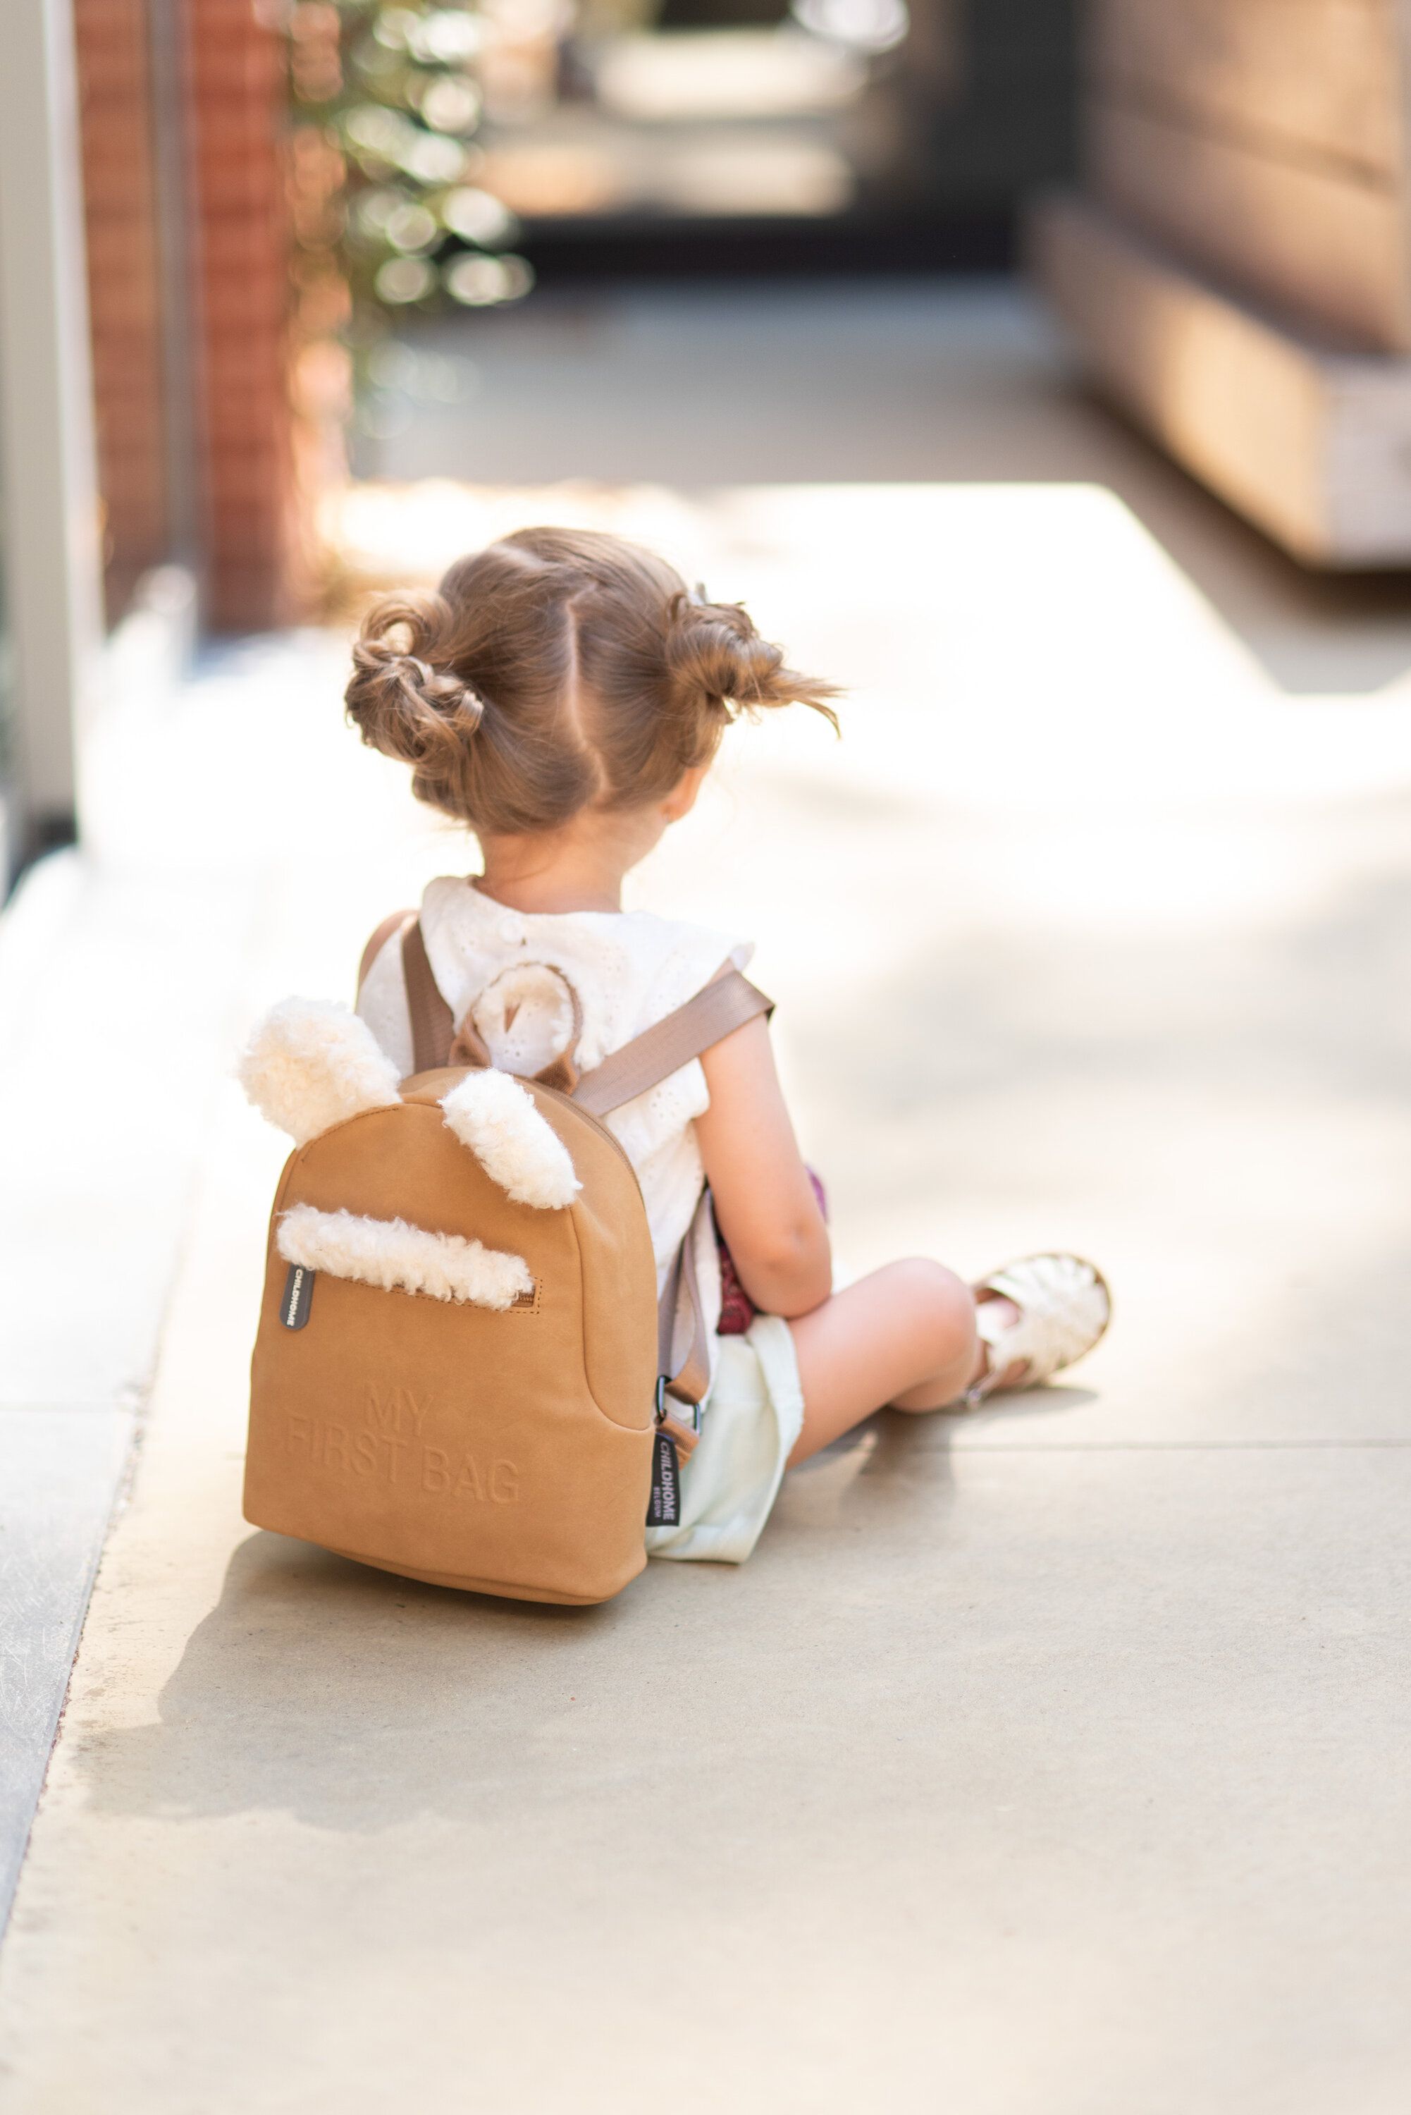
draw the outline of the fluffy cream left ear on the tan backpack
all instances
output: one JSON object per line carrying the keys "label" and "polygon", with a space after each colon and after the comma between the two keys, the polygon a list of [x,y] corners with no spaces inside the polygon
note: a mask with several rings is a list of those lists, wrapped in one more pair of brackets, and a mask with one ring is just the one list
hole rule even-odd
{"label": "fluffy cream left ear on the tan backpack", "polygon": [[283,998],[241,1051],[237,1079],[296,1146],[364,1108],[400,1102],[398,1068],[366,1022],[328,998]]}

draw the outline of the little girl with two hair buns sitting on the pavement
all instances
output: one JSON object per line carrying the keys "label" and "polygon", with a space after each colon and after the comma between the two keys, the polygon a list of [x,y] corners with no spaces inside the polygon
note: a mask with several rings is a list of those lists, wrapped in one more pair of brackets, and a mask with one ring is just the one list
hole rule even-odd
{"label": "little girl with two hair buns sitting on the pavement", "polygon": [[[497,1066],[552,1064],[565,986],[590,1068],[749,962],[747,941],[622,909],[624,876],[690,812],[738,713],[800,702],[836,725],[836,687],[785,668],[738,605],[688,594],[620,537],[523,529],[459,558],[436,594],[377,603],[353,662],[347,709],[362,738],[410,764],[417,797],[480,840],[482,871],[432,882],[421,931],[442,998]],[[358,1011],[410,1072],[398,924],[368,941]],[[607,1121],[637,1170],[662,1282],[696,1222],[717,1328],[719,1252],[696,1210],[709,1184],[757,1309],[743,1335],[713,1337],[681,1525],[647,1529],[660,1557],[743,1563],[785,1468],[863,1417],[1043,1381],[1106,1328],[1100,1273],[1066,1254],[1026,1256],[979,1286],[910,1258],[833,1292],[764,1017]]]}

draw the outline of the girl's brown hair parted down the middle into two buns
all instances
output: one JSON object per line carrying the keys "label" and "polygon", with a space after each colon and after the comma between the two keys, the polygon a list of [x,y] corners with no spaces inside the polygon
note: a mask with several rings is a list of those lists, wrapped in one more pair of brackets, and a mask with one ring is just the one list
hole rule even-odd
{"label": "girl's brown hair parted down the middle into two buns", "polygon": [[759,706],[838,725],[836,685],[785,668],[738,603],[694,599],[662,558],[592,529],[518,529],[434,594],[383,596],[353,666],[364,742],[491,835],[660,799]]}

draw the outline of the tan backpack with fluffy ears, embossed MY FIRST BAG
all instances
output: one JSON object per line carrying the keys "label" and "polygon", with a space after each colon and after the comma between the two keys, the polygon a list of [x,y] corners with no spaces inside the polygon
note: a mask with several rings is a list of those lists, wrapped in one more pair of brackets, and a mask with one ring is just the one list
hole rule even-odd
{"label": "tan backpack with fluffy ears, embossed MY FIRST BAG", "polygon": [[[692,1235],[658,1305],[633,1165],[601,1121],[770,1003],[730,969],[582,1077],[493,1070],[402,924],[415,1072],[290,998],[241,1062],[294,1138],[269,1229],[245,1519],[383,1571],[605,1601],[679,1519],[709,1347]],[[702,1203],[702,1210],[709,1210]],[[694,1229],[692,1229],[694,1231]]]}

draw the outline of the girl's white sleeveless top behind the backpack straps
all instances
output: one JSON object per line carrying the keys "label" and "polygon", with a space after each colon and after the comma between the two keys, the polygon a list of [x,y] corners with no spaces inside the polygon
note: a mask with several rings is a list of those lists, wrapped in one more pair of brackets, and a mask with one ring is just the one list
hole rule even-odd
{"label": "girl's white sleeveless top behind the backpack straps", "polygon": [[[584,1013],[578,1064],[590,1072],[643,1028],[654,1028],[694,998],[726,962],[745,969],[755,952],[751,941],[652,912],[514,912],[453,876],[427,886],[421,933],[455,1019],[470,1009],[495,1064],[523,1074],[550,1064],[571,1036],[565,981],[578,992]],[[410,1072],[413,1032],[400,935],[385,941],[368,969],[358,1013],[398,1070]],[[660,1087],[605,1119],[641,1182],[658,1290],[700,1203],[704,1167],[696,1117],[709,1106],[704,1070],[692,1058]],[[696,1242],[696,1275],[715,1345],[719,1256],[707,1214]]]}

